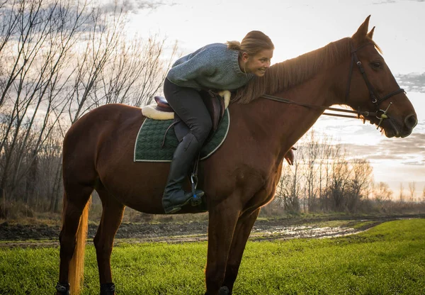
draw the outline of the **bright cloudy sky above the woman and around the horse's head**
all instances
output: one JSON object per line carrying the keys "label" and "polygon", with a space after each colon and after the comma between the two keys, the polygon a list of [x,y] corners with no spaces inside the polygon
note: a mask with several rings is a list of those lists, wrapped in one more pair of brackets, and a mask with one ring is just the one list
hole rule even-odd
{"label": "bright cloudy sky above the woman and around the horse's head", "polygon": [[[105,3],[108,1],[105,1]],[[376,126],[348,118],[322,116],[314,130],[344,143],[373,166],[375,182],[425,188],[425,0],[127,0],[130,30],[178,41],[181,54],[215,42],[242,40],[261,30],[275,45],[273,62],[282,62],[329,42],[349,37],[368,15],[373,38],[400,87],[407,91],[419,123],[408,138],[385,138]]]}

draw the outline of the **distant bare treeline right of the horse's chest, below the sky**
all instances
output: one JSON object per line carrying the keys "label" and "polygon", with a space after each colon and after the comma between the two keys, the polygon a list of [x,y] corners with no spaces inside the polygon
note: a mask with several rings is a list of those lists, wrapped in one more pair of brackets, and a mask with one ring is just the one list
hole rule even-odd
{"label": "distant bare treeline right of the horse's chest, below the sky", "polygon": [[[415,182],[409,182],[408,195],[403,192],[402,184],[397,195],[387,183],[375,183],[368,160],[353,157],[344,145],[331,138],[318,138],[314,130],[306,133],[297,147],[294,166],[283,166],[269,211],[278,208],[306,213],[409,211],[412,204],[425,201],[425,188],[416,196]],[[406,206],[406,202],[411,204]]]}

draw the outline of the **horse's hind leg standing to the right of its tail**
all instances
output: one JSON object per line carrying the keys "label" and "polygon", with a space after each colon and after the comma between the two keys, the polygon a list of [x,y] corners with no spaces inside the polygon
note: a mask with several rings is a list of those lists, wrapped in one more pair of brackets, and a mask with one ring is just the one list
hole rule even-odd
{"label": "horse's hind leg standing to the right of its tail", "polygon": [[96,187],[96,191],[101,198],[103,206],[101,223],[94,237],[101,282],[101,295],[113,295],[115,285],[112,282],[111,252],[115,234],[123,219],[125,206],[109,194],[103,185]]}

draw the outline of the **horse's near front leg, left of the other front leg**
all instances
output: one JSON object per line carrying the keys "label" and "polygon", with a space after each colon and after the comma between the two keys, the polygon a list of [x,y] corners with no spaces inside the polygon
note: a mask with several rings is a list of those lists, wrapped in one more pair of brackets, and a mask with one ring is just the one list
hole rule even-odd
{"label": "horse's near front leg, left of the other front leg", "polygon": [[230,196],[220,204],[210,206],[205,295],[217,295],[225,279],[227,258],[240,213],[239,206],[233,200],[234,196]]}

